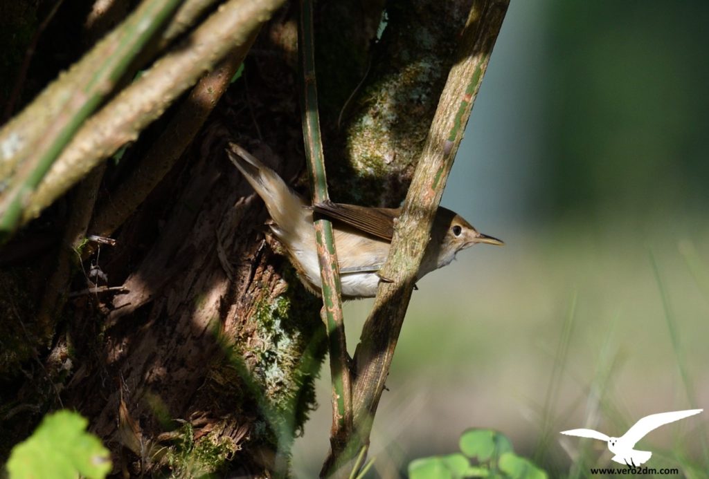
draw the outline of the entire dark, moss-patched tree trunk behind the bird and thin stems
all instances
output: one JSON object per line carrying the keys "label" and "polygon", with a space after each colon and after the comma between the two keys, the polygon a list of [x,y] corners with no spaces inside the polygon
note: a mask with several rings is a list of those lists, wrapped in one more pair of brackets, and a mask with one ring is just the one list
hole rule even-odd
{"label": "entire dark, moss-patched tree trunk behind the bird and thin stems", "polygon": [[[381,1],[320,2],[316,62],[333,199],[401,202],[470,3],[391,2],[368,69]],[[325,354],[320,300],[264,235],[263,203],[224,149],[238,142],[286,181],[298,178],[297,10],[289,4],[262,29],[242,77],[117,231],[116,246],[75,265],[49,333],[39,298],[54,294],[47,278],[67,248],[57,238],[85,200],[67,195],[4,249],[3,456],[45,412],[64,407],[89,418],[114,473],[287,470],[290,445],[315,407]],[[109,166],[95,211],[110,207],[111,192],[140,168],[165,124]],[[123,289],[84,291],[95,283]]]}

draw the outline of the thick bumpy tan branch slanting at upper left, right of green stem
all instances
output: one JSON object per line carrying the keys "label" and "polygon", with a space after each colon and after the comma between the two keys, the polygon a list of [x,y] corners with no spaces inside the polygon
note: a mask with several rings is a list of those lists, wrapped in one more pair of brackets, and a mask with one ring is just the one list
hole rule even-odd
{"label": "thick bumpy tan branch slanting at upper left, right of green stem", "polygon": [[[22,224],[37,217],[42,209],[123,144],[135,140],[141,130],[160,117],[202,74],[235,46],[245,43],[283,3],[284,0],[225,2],[182,44],[84,122],[28,198],[22,211]],[[0,140],[12,135],[13,131],[3,130]],[[2,146],[0,141],[0,155]]]}

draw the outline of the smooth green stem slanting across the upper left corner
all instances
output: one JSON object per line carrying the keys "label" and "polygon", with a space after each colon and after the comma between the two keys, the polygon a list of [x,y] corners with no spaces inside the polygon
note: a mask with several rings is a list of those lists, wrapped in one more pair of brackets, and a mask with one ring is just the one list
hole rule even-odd
{"label": "smooth green stem slanting across the upper left corner", "polygon": [[[157,29],[172,16],[179,4],[179,0],[143,1],[138,10],[125,21],[123,35],[111,37],[102,43],[107,54],[102,58],[94,56],[96,63],[93,67],[82,70],[77,78],[78,88],[67,88],[57,103],[55,122],[37,137],[36,143],[26,147],[26,161],[0,199],[0,241],[9,238],[20,224],[28,196],[39,185],[84,120],[111,93],[133,59]],[[15,141],[26,142],[27,139]],[[17,163],[18,160],[10,159],[8,162]]]}

